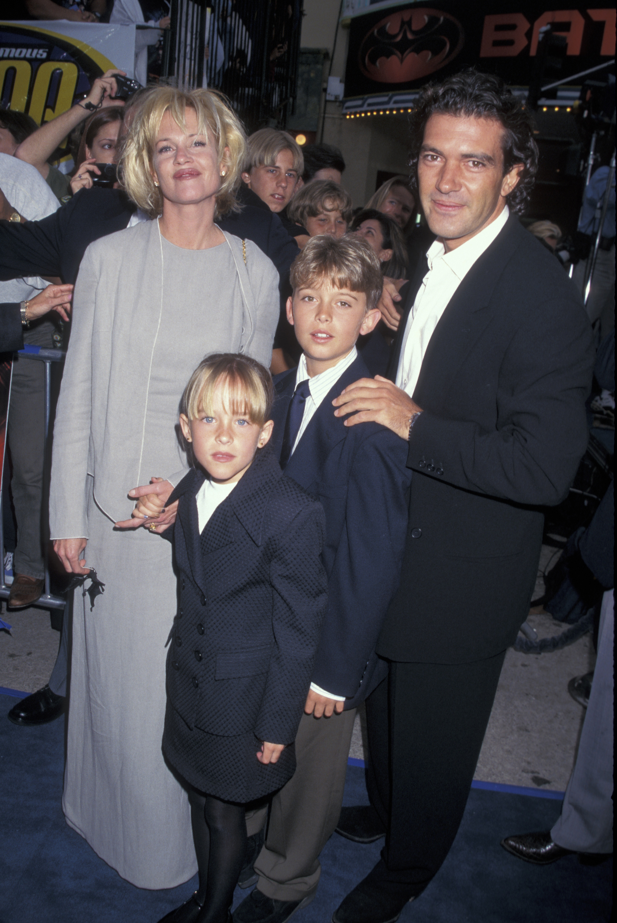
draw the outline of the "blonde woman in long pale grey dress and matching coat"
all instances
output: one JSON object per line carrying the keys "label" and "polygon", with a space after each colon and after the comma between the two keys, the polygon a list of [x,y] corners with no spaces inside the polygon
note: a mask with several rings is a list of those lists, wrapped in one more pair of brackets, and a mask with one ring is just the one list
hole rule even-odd
{"label": "blonde woman in long pale grey dress and matching coat", "polygon": [[233,206],[244,155],[242,127],[215,92],[148,94],[122,171],[154,220],[86,251],[54,427],[54,549],[67,571],[94,568],[105,584],[92,609],[76,594],[63,807],[141,888],[186,881],[196,857],[186,794],[160,750],[176,611],[171,548],[160,526],[114,523],[130,518],[127,492],[144,478],[168,480],[169,496],[184,476],[174,426],[203,356],[269,364],[279,276],[257,246],[214,223]]}

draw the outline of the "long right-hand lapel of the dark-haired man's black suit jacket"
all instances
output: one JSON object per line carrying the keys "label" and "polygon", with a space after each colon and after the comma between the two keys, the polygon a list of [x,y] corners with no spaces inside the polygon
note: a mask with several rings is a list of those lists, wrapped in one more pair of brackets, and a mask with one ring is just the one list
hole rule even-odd
{"label": "long right-hand lapel of the dark-haired man's black suit jacket", "polygon": [[424,354],[413,392],[413,400],[420,407],[441,406],[469,350],[492,322],[499,309],[490,306],[492,291],[516,251],[521,230],[518,218],[511,214],[446,306]]}

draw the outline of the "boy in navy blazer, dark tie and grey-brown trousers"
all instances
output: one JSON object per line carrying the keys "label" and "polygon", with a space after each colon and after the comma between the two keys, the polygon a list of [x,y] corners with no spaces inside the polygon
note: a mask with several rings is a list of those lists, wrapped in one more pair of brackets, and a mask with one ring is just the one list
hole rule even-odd
{"label": "boy in navy blazer, dark tie and grey-brown trousers", "polygon": [[285,473],[326,511],[328,606],[296,773],[273,797],[254,863],[257,887],[234,923],[283,923],[314,898],[318,857],[338,822],[356,708],[386,677],[374,648],[407,529],[406,444],[383,426],[346,426],[332,406],[346,385],[369,375],[355,343],[380,318],[377,258],[354,235],[317,236],[294,261],[291,284],[287,316],[303,355],[275,378],[272,442]]}

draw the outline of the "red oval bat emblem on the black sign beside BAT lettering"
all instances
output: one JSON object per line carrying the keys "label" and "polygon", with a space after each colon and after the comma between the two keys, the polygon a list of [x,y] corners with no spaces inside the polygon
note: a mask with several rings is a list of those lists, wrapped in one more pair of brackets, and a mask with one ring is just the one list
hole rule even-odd
{"label": "red oval bat emblem on the black sign beside BAT lettering", "polygon": [[364,36],[360,69],[378,83],[409,83],[448,64],[463,42],[463,27],[453,16],[414,6],[391,13]]}

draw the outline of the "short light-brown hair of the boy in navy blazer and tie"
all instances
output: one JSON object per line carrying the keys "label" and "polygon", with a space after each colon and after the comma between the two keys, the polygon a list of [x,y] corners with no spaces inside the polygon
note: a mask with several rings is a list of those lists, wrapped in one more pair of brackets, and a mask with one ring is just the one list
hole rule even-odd
{"label": "short light-brown hair of the boy in navy blazer and tie", "polygon": [[384,286],[373,247],[362,237],[351,234],[311,237],[291,263],[290,280],[294,294],[298,289],[313,288],[323,282],[333,288],[362,292],[366,295],[367,311],[378,305]]}

